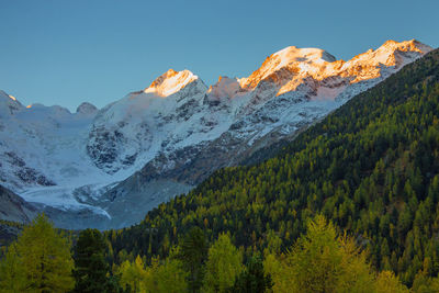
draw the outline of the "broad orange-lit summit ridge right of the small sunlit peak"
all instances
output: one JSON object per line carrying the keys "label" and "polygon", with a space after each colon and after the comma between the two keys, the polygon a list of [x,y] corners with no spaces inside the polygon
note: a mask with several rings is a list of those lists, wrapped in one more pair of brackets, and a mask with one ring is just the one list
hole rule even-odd
{"label": "broad orange-lit summit ridge right of the small sunlit peak", "polygon": [[[255,90],[266,81],[262,90],[269,94],[274,92],[275,95],[296,90],[306,83],[305,80],[320,82],[338,77],[356,83],[389,75],[389,70],[382,71],[383,66],[398,69],[431,49],[416,40],[387,41],[378,49],[369,49],[349,61],[344,61],[319,48],[290,46],[270,55],[248,78],[239,79],[239,83],[243,89]],[[267,87],[267,82],[272,86]],[[311,87],[314,88],[312,83]]]}

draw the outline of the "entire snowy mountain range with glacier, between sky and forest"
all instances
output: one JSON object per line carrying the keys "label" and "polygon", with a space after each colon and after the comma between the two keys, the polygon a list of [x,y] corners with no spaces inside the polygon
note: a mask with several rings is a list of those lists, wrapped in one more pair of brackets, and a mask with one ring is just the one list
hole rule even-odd
{"label": "entire snowy mountain range with glacier, between sky and forest", "polygon": [[127,226],[215,170],[291,140],[429,50],[389,41],[344,61],[292,46],[249,77],[221,77],[211,87],[170,69],[99,111],[24,108],[2,93],[0,182],[55,209],[58,226]]}

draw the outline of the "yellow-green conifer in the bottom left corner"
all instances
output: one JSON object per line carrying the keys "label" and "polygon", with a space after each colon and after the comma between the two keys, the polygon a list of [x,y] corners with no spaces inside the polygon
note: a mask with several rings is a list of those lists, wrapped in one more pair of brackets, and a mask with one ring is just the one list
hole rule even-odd
{"label": "yellow-green conifer in the bottom left corner", "polygon": [[42,214],[9,247],[0,288],[4,292],[67,292],[75,284],[72,268],[69,240]]}

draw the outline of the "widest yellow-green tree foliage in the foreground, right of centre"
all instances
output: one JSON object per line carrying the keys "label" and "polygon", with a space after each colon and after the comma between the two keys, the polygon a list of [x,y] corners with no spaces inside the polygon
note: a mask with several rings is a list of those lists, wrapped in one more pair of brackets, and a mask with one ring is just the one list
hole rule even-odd
{"label": "widest yellow-green tree foliage in the foreground, right of centre", "polygon": [[408,292],[389,272],[375,279],[367,253],[351,238],[338,236],[323,216],[309,221],[291,251],[270,253],[263,264],[274,281],[273,292]]}

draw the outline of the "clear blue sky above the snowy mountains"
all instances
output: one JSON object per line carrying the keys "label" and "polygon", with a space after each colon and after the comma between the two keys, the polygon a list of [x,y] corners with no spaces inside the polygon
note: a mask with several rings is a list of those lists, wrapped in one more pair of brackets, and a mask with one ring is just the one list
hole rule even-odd
{"label": "clear blue sky above the snowy mountains", "polygon": [[246,77],[286,46],[348,60],[386,40],[439,46],[438,0],[0,0],[0,89],[24,105],[102,108],[189,69]]}

